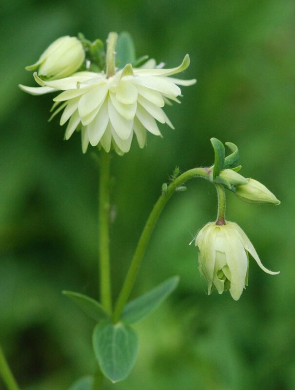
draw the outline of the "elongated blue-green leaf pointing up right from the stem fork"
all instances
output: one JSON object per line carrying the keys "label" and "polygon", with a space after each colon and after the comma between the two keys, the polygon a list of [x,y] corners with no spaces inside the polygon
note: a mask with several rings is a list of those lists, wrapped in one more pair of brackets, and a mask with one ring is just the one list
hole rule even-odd
{"label": "elongated blue-green leaf pointing up right from the stem fork", "polygon": [[122,313],[122,321],[126,324],[134,324],[147,317],[177,288],[178,283],[179,276],[174,276],[150,292],[127,303]]}

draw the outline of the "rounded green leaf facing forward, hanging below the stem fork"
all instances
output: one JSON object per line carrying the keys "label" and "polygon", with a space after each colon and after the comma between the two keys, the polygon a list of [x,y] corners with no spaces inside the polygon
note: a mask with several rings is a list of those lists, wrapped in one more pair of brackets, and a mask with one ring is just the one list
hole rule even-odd
{"label": "rounded green leaf facing forward, hanging below the stem fork", "polygon": [[113,383],[125,379],[138,354],[138,336],[127,325],[101,322],[94,328],[93,349],[100,370]]}

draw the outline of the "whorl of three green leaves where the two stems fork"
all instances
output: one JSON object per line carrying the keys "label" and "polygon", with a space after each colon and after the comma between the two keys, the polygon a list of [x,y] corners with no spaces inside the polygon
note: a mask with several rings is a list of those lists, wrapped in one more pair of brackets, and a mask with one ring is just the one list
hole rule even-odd
{"label": "whorl of three green leaves where the two stems fork", "polygon": [[130,325],[143,320],[156,310],[176,289],[178,282],[179,277],[174,276],[129,302],[122,312],[121,321],[117,324],[112,323],[109,314],[96,300],[77,292],[63,292],[85,314],[99,322],[93,332],[93,348],[101,371],[112,382],[125,379],[137,357],[138,336]]}

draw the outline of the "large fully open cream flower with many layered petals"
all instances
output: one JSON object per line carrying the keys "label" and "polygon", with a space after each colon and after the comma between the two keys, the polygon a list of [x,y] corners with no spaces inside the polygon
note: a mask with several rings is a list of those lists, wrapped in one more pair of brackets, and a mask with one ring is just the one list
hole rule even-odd
{"label": "large fully open cream flower with many layered petals", "polygon": [[160,136],[157,121],[174,128],[163,111],[170,100],[181,96],[178,85],[193,85],[196,80],[172,78],[185,70],[190,63],[186,55],[180,66],[173,69],[132,68],[128,64],[112,77],[94,72],[78,72],[71,77],[44,81],[34,77],[41,87],[20,88],[32,95],[61,90],[53,100],[53,116],[63,110],[60,125],[68,121],[65,139],[75,130],[81,130],[82,150],[88,144],[109,152],[111,146],[118,154],[129,151],[133,135],[140,148],[146,143],[147,131]]}

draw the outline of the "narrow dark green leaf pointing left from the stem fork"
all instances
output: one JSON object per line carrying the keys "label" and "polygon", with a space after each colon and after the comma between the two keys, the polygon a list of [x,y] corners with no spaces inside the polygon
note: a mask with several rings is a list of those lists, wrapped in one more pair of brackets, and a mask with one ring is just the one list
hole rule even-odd
{"label": "narrow dark green leaf pointing left from the stem fork", "polygon": [[87,295],[79,294],[79,292],[63,291],[62,293],[72,299],[88,317],[95,321],[109,319],[109,314],[95,299],[92,299]]}

